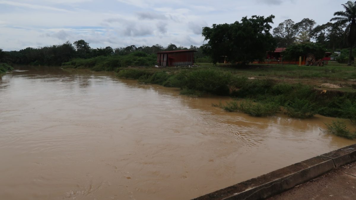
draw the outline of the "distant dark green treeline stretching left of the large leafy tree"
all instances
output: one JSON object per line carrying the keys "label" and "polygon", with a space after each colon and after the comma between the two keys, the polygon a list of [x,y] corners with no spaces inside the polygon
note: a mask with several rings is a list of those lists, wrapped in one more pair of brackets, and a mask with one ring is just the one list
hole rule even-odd
{"label": "distant dark green treeline stretching left of the large leafy tree", "polygon": [[135,45],[113,49],[111,47],[105,48],[91,48],[89,43],[84,40],[75,41],[73,44],[67,41],[60,45],[52,45],[45,47],[32,48],[27,47],[20,51],[2,51],[0,49],[0,63],[12,63],[23,65],[56,65],[60,66],[62,63],[69,62],[72,59],[95,59],[97,57],[108,56],[125,56],[134,52],[143,52],[147,55],[156,55],[160,51],[176,51],[192,49],[197,51],[194,54],[195,59],[203,58],[203,49],[201,47],[190,46],[189,48],[175,44],[169,44],[163,47],[159,44],[149,46],[136,47]]}

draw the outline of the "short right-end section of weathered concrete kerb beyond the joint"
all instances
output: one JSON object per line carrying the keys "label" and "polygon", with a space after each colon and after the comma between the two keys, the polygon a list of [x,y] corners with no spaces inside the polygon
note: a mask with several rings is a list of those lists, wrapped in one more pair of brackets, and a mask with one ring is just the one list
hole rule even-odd
{"label": "short right-end section of weathered concrete kerb beyond the joint", "polygon": [[321,156],[333,159],[336,168],[356,161],[356,144],[325,153]]}

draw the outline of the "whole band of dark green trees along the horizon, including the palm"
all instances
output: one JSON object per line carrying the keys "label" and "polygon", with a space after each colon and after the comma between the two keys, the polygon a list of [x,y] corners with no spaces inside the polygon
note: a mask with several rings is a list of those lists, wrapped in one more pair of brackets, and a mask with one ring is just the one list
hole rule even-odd
{"label": "whole band of dark green trees along the horizon, including the palm", "polygon": [[[99,56],[127,55],[133,52],[156,54],[159,51],[175,51],[192,49],[197,51],[195,58],[209,57],[209,61],[217,63],[221,57],[226,57],[231,63],[248,63],[253,60],[263,60],[266,52],[276,47],[294,49],[287,51],[286,57],[302,56],[301,53],[314,53],[322,56],[326,48],[337,49],[349,47],[349,62],[353,60],[352,48],[356,41],[356,1],[341,4],[344,11],[334,13],[330,22],[316,25],[312,19],[305,18],[295,23],[288,19],[273,28],[274,16],[243,17],[241,21],[231,24],[214,24],[203,27],[202,36],[205,44],[189,48],[175,44],[163,47],[135,45],[113,49],[111,47],[91,48],[84,40],[39,48],[28,47],[20,51],[4,52],[0,50],[0,62],[31,65],[61,65],[73,58],[94,58]],[[315,41],[315,42],[312,42]],[[292,53],[290,53],[292,52]],[[288,55],[288,53],[290,53]]]}

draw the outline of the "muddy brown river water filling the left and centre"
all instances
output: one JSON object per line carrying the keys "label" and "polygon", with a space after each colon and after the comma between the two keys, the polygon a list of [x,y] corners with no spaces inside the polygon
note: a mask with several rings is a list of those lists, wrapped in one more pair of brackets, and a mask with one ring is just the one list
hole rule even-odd
{"label": "muddy brown river water filling the left and centre", "polygon": [[113,73],[0,76],[0,199],[191,199],[354,144],[324,122],[251,117]]}

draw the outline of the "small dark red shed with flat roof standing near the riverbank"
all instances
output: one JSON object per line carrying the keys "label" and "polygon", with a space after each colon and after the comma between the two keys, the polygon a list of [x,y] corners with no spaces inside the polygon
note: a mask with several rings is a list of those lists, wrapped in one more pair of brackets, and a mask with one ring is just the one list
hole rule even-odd
{"label": "small dark red shed with flat roof standing near the riverbank", "polygon": [[180,66],[194,64],[194,50],[163,51],[157,52],[159,66]]}

